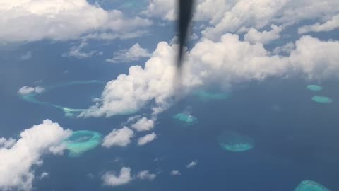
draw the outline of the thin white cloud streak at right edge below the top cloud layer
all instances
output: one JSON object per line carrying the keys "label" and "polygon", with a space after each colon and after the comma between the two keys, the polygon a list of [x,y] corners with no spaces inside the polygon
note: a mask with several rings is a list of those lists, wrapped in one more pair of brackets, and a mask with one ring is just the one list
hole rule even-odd
{"label": "thin white cloud streak at right edge below the top cloud layer", "polygon": [[339,15],[333,16],[331,20],[326,21],[325,23],[315,23],[314,25],[303,26],[298,29],[299,34],[309,33],[309,32],[323,32],[331,31],[339,28]]}

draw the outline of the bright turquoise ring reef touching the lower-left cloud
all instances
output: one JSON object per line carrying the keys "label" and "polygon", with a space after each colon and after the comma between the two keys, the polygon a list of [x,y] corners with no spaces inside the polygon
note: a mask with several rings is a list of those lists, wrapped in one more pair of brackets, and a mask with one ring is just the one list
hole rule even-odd
{"label": "bright turquoise ring reef touching the lower-left cloud", "polygon": [[76,131],[71,137],[64,140],[69,157],[81,156],[85,151],[94,149],[102,142],[102,134],[93,131]]}

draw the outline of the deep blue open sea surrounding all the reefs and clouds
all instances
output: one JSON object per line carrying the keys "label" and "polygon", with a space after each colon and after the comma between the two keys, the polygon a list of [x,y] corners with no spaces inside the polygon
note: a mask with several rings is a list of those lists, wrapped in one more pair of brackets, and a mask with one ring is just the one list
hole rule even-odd
{"label": "deep blue open sea surrounding all the reefs and clouds", "polygon": [[[105,57],[81,60],[61,57],[71,46],[64,42],[53,45],[49,41],[32,42],[13,50],[1,50],[0,137],[18,137],[23,129],[47,118],[74,131],[93,130],[105,135],[120,128],[129,116],[67,118],[57,108],[21,100],[17,91],[25,85],[48,87],[69,81],[112,80],[128,72],[132,64],[146,60],[131,64],[103,62],[113,55],[113,50],[129,48],[136,42],[154,50],[157,42],[172,38],[173,31],[168,28],[150,30],[152,35],[137,40],[115,40],[105,45],[89,42],[93,50],[103,51]],[[337,39],[338,33],[326,37]],[[32,59],[25,62],[15,59],[28,50],[33,52]],[[323,90],[319,92],[307,90],[308,84],[317,83],[297,78],[266,79],[233,86],[232,97],[227,100],[201,102],[189,96],[159,115],[155,126],[159,137],[152,143],[137,146],[137,138],[144,134],[138,133],[126,148],[99,146],[79,158],[69,158],[67,154],[44,156],[44,164],[34,167],[35,175],[47,171],[49,178],[41,181],[36,178],[33,185],[37,191],[287,191],[294,190],[302,180],[314,180],[330,190],[339,190],[338,81],[323,81]],[[62,87],[40,98],[69,108],[86,108],[92,98],[100,96],[102,88],[94,84]],[[312,96],[329,96],[334,102],[314,103]],[[187,108],[198,122],[182,127],[172,116]],[[225,130],[253,138],[254,149],[242,153],[222,150],[217,137]],[[115,162],[117,158],[119,161]],[[160,159],[154,161],[155,158]],[[187,169],[186,165],[195,159],[198,166]],[[152,182],[133,180],[124,186],[103,186],[101,175],[107,170],[119,172],[122,166],[131,167],[133,175],[140,170],[159,174]],[[179,170],[182,175],[172,177],[171,170]]]}

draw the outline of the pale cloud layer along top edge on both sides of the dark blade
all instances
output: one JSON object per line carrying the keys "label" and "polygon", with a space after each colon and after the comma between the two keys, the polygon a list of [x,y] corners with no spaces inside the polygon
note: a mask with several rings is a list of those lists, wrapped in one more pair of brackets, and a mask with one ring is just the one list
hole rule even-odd
{"label": "pale cloud layer along top edge on both sides of the dark blade", "polygon": [[[197,0],[194,20],[208,21],[210,27],[203,30],[204,37],[219,40],[225,33],[244,32],[275,24],[294,24],[306,20],[328,20],[338,14],[337,0]],[[150,1],[146,15],[167,21],[175,19],[175,1]],[[313,28],[313,27],[312,27]],[[316,25],[321,31],[338,28],[338,18],[333,17],[324,25]]]}

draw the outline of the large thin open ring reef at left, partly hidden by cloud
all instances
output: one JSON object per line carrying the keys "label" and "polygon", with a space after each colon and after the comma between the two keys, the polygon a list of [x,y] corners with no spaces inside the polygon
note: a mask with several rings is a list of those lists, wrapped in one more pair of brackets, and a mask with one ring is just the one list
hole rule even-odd
{"label": "large thin open ring reef at left, partly hidden by cloud", "polygon": [[[68,83],[59,83],[53,86],[48,86],[45,88],[45,91],[42,93],[46,93],[54,88],[62,88],[62,87],[66,87],[66,86],[73,86],[73,85],[78,85],[78,84],[105,84],[105,82],[103,81],[96,81],[96,80],[90,80],[90,81],[70,81]],[[25,101],[28,101],[30,103],[37,103],[40,105],[49,105],[52,106],[54,108],[58,108],[60,110],[62,110],[64,112],[64,115],[66,117],[74,117],[75,115],[80,114],[81,112],[84,112],[86,110],[90,110],[90,109],[77,109],[77,108],[68,108],[68,107],[64,107],[62,105],[57,105],[54,103],[50,103],[50,102],[44,102],[44,101],[40,101],[36,98],[37,95],[39,95],[41,93],[29,93],[27,95],[23,95],[21,96],[21,98]]]}

